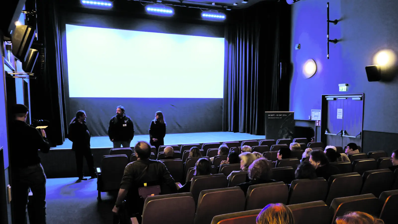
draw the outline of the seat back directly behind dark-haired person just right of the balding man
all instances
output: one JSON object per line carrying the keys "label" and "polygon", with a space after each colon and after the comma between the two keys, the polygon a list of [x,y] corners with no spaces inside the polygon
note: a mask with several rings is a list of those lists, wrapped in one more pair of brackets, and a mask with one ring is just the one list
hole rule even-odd
{"label": "seat back directly behind dark-haired person just right of the balding man", "polygon": [[201,191],[225,187],[228,187],[226,176],[222,174],[203,175],[192,178],[190,192],[197,203]]}

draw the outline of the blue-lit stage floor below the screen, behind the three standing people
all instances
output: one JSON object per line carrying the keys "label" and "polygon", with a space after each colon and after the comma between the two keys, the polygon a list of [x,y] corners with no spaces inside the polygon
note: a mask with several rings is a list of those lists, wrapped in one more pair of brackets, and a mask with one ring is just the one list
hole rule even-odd
{"label": "blue-lit stage floor below the screen, behind the three standing people", "polygon": [[[165,145],[181,145],[191,143],[222,142],[222,141],[242,141],[242,140],[262,140],[265,136],[256,136],[246,133],[234,132],[201,132],[201,133],[183,133],[166,134],[164,138]],[[134,136],[130,146],[134,146],[138,141],[149,141],[149,135]],[[91,148],[113,147],[108,136],[91,137]],[[65,139],[64,144],[51,149],[71,149],[72,141]]]}

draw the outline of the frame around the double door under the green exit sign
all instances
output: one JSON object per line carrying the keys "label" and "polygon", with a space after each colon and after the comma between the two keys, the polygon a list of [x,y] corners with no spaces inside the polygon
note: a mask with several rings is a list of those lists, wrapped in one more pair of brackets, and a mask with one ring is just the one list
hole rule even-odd
{"label": "frame around the double door under the green exit sign", "polygon": [[[336,96],[336,97],[333,97]],[[345,98],[353,98],[355,96],[361,96],[362,97],[362,124],[361,124],[361,148],[363,148],[362,143],[363,143],[363,111],[365,110],[365,93],[357,93],[357,94],[322,94],[322,105],[321,105],[321,141],[325,144],[326,146],[326,124],[328,124],[328,113],[326,110],[328,110],[328,100],[326,100],[327,97],[330,98],[339,98],[339,97],[344,97]]]}

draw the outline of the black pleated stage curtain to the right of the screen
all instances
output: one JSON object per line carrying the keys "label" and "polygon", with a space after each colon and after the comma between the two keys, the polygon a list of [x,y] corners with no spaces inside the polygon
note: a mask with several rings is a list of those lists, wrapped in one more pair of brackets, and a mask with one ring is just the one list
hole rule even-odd
{"label": "black pleated stage curtain to the right of the screen", "polygon": [[264,135],[264,112],[289,108],[290,7],[260,2],[232,16],[226,29],[226,131]]}

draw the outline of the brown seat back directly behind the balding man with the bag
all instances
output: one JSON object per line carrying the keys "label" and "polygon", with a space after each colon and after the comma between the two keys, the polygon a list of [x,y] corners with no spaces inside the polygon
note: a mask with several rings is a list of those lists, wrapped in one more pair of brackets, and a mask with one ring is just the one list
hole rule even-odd
{"label": "brown seat back directly behind the balding man with the bag", "polygon": [[191,193],[150,196],[145,199],[141,223],[193,223],[195,210]]}

